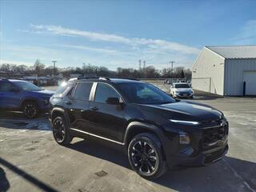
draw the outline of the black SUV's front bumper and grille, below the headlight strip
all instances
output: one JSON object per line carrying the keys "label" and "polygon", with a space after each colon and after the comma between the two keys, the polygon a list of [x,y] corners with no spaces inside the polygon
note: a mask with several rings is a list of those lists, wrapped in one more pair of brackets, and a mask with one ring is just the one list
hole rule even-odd
{"label": "black SUV's front bumper and grille, below the headlight strip", "polygon": [[[222,122],[222,126],[194,129],[194,133],[189,134],[191,140],[190,144],[187,145],[178,144],[178,136],[166,139],[167,145],[164,145],[163,148],[165,150],[168,167],[207,166],[222,159],[229,149],[228,122]],[[220,136],[218,140],[209,140],[209,136],[217,138],[217,134]]]}

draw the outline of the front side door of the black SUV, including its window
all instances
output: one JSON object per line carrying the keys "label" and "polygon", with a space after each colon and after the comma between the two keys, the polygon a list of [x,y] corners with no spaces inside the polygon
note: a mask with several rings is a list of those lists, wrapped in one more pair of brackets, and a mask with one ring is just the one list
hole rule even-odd
{"label": "front side door of the black SUV, including its window", "polygon": [[90,102],[90,110],[86,114],[87,119],[90,119],[91,134],[122,142],[126,123],[125,108],[106,103],[107,98],[121,98],[121,96],[112,86],[98,82],[94,102]]}

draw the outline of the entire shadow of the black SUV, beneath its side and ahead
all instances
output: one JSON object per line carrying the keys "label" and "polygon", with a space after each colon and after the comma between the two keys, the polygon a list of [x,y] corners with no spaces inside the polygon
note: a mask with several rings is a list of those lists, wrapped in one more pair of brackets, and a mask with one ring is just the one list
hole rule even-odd
{"label": "entire shadow of the black SUV, beneath its side and ahead", "polygon": [[[128,159],[120,148],[106,146],[104,142],[86,139],[67,147],[130,169]],[[255,170],[256,162],[225,157],[210,166],[177,167],[168,170],[162,178],[150,182],[178,191],[254,191]]]}

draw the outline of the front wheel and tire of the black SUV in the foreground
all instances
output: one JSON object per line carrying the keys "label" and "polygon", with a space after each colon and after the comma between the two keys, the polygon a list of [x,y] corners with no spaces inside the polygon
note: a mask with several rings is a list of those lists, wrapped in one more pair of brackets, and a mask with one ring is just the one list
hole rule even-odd
{"label": "front wheel and tire of the black SUV in the foreground", "polygon": [[130,166],[137,174],[147,179],[155,179],[166,173],[162,145],[154,134],[136,135],[128,146]]}

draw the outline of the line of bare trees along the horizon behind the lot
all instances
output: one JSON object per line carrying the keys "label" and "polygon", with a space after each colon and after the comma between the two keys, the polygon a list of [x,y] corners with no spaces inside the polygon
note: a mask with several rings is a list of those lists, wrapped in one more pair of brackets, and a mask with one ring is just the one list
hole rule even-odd
{"label": "line of bare trees along the horizon behind the lot", "polygon": [[[42,77],[48,75],[52,77],[54,67],[45,66],[37,59],[33,66],[3,63],[0,65],[0,71],[6,72],[9,76],[23,74],[26,76],[38,75],[38,77]],[[174,67],[174,70],[170,68],[157,70],[154,66],[146,66],[142,69],[118,67],[114,71],[105,66],[84,65],[82,67],[56,67],[55,73],[56,75],[62,74],[63,78],[70,78],[70,74],[113,78],[191,78],[190,69],[186,69],[183,66]]]}

